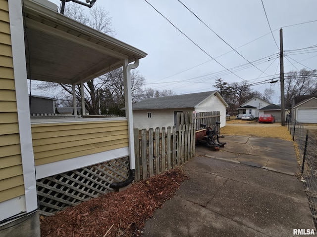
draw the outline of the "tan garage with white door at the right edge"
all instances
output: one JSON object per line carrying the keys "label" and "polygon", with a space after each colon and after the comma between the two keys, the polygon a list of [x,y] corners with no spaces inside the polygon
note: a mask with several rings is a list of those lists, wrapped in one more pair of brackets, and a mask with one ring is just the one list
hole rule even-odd
{"label": "tan garage with white door at the right edge", "polygon": [[302,123],[317,123],[317,98],[312,97],[293,107],[294,118]]}

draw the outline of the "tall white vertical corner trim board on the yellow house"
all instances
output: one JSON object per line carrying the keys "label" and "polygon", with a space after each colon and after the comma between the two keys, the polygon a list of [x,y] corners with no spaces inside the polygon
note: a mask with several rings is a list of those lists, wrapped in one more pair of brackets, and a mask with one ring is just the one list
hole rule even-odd
{"label": "tall white vertical corner trim board on the yellow house", "polygon": [[24,29],[21,0],[9,0],[9,19],[16,104],[27,213],[38,208],[32,146],[29,93],[26,73]]}

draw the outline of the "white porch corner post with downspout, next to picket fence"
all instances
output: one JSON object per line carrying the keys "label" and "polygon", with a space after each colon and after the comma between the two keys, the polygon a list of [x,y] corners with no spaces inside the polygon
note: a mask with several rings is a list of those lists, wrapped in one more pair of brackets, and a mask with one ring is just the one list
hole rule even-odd
{"label": "white porch corner post with downspout, next to picket fence", "polygon": [[124,101],[125,115],[128,119],[128,139],[129,139],[129,157],[130,169],[135,169],[134,138],[133,138],[133,114],[132,114],[132,89],[131,89],[131,69],[139,66],[139,59],[135,59],[133,64],[129,64],[127,59],[123,60],[123,83],[124,83]]}

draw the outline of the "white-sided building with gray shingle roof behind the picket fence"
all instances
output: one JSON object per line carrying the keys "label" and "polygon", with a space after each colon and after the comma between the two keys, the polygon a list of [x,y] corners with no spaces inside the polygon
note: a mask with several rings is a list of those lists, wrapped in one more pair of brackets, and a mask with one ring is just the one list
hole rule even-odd
{"label": "white-sided building with gray shingle roof behind the picket fence", "polygon": [[226,125],[226,107],[217,91],[150,98],[132,105],[133,126],[139,129],[176,125],[177,112],[220,112],[220,127]]}

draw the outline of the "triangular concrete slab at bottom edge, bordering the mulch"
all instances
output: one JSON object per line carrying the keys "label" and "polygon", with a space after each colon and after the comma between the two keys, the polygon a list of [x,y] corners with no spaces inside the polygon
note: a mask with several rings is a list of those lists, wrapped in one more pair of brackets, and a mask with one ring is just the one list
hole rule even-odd
{"label": "triangular concrete slab at bottom edge, bordering the mulch", "polygon": [[181,197],[166,201],[143,232],[143,237],[266,237]]}

